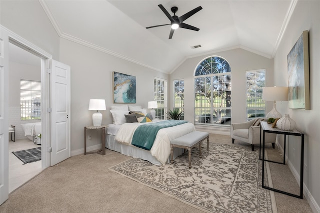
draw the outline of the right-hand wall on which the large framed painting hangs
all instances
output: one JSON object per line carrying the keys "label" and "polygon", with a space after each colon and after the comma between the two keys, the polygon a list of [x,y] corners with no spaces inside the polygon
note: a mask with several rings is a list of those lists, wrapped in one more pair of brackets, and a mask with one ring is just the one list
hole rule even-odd
{"label": "right-hand wall on which the large framed painting hangs", "polygon": [[[281,114],[289,114],[295,120],[297,129],[304,133],[304,185],[308,202],[314,212],[320,212],[320,1],[297,1],[287,25],[278,51],[274,57],[274,82],[287,85],[287,54],[303,30],[309,30],[309,74],[310,74],[310,110],[288,109],[287,102],[277,105]],[[283,144],[283,143],[281,143]],[[299,178],[300,140],[289,137],[287,143],[288,163],[293,174]],[[295,150],[295,155],[293,150]]]}

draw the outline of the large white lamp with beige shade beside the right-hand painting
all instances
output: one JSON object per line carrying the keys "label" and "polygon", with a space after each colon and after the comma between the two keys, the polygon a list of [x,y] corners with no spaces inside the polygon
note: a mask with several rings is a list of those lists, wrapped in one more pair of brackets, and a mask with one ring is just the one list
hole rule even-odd
{"label": "large white lamp with beige shade beside the right-hand painting", "polygon": [[287,101],[288,100],[288,88],[273,86],[262,88],[262,100],[273,101],[273,108],[266,114],[266,118],[281,118],[282,115],[276,110],[275,101]]}

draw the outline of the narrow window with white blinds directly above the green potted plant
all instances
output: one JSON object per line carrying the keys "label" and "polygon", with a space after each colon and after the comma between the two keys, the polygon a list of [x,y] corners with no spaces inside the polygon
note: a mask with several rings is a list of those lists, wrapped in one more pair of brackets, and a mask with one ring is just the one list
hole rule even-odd
{"label": "narrow window with white blinds directly above the green potted plant", "polygon": [[[184,80],[173,81],[173,109],[183,112],[184,109]],[[184,114],[179,120],[184,120]]]}

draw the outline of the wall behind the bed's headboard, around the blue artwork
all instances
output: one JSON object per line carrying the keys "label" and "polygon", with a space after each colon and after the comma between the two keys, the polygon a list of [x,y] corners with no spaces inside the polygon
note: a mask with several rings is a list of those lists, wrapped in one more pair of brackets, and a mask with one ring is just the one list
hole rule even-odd
{"label": "wall behind the bed's headboard, around the blue artwork", "polygon": [[[88,111],[89,99],[105,99],[106,111],[102,123],[112,123],[109,108],[112,102],[112,72],[136,77],[136,104],[143,108],[153,100],[154,77],[168,80],[168,75],[139,66],[135,63],[60,39],[60,61],[71,66],[71,154],[83,153],[84,126],[92,125],[92,111]],[[100,133],[89,131],[91,141],[87,146],[99,144]]]}

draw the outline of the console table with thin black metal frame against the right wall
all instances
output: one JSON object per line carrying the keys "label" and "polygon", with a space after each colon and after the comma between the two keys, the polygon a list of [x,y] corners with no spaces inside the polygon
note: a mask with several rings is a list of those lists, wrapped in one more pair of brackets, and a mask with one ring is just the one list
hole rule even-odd
{"label": "console table with thin black metal frame against the right wall", "polygon": [[[303,199],[303,151],[304,151],[304,134],[297,131],[284,131],[280,130],[278,128],[272,128],[271,124],[268,124],[266,121],[261,122],[261,130],[262,130],[262,188],[268,189],[274,192],[282,193],[284,195],[289,195],[295,198]],[[274,133],[274,134],[280,134],[284,135],[284,145],[283,145],[283,162],[275,162],[275,161],[269,161],[264,159],[264,134],[265,133]],[[280,191],[277,189],[273,189],[270,187],[264,186],[264,161],[271,162],[271,163],[277,163],[277,164],[285,164],[285,139],[287,135],[293,135],[293,136],[300,136],[301,137],[301,155],[300,155],[300,195],[295,195],[291,193],[287,193],[284,191]],[[260,149],[261,149],[261,134],[260,134]],[[261,159],[260,159],[261,160]]]}

